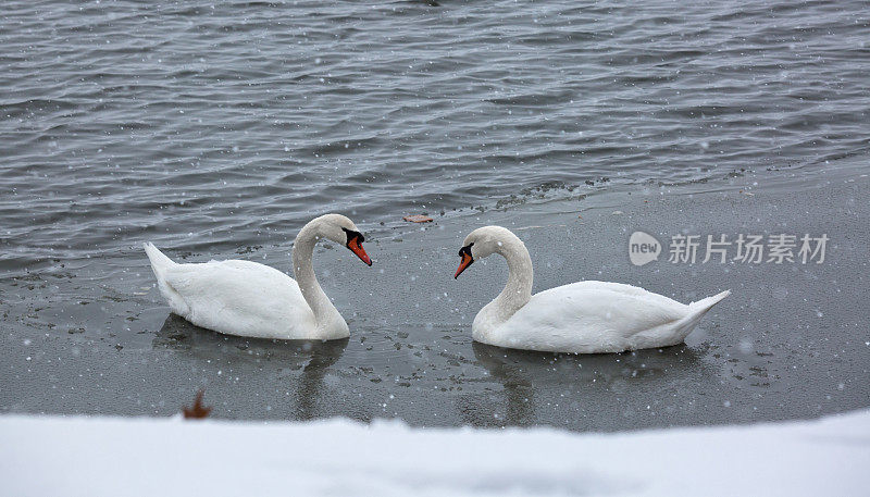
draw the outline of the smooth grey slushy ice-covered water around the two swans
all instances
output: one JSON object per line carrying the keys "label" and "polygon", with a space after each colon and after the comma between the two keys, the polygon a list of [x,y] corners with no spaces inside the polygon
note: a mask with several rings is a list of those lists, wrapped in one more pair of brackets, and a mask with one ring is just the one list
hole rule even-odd
{"label": "smooth grey slushy ice-covered water around the two swans", "polygon": [[[755,188],[771,179],[749,175],[438,219],[366,238],[371,268],[322,244],[318,276],[351,330],[349,339],[325,344],[224,336],[171,315],[141,251],[59,262],[0,287],[0,413],[171,415],[201,387],[217,418],[398,418],[427,426],[613,431],[863,408],[870,314],[856,309],[870,274],[870,179],[860,171],[862,163],[846,176],[797,177],[786,188]],[[683,302],[732,295],[676,347],[568,356],[475,344],[471,322],[504,286],[506,264],[494,257],[459,279],[452,274],[462,238],[484,223],[525,241],[534,291],[607,279]],[[638,228],[828,233],[831,243],[823,264],[638,268],[626,250]],[[166,252],[289,270],[286,251],[272,247]]]}

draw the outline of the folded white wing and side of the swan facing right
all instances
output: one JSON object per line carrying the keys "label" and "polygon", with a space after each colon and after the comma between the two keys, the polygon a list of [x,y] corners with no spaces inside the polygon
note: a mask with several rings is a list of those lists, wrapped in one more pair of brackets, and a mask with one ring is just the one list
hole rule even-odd
{"label": "folded white wing and side of the swan facing right", "polygon": [[177,264],[166,271],[165,282],[187,305],[173,311],[202,327],[262,338],[304,338],[315,328],[296,281],[268,265]]}

